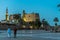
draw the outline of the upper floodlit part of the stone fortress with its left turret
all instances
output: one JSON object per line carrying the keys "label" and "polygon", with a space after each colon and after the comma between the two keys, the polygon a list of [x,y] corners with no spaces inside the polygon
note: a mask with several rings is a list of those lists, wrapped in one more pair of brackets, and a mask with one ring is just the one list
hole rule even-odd
{"label": "upper floodlit part of the stone fortress with its left turret", "polygon": [[39,17],[39,14],[38,13],[25,13],[23,11],[23,20],[25,22],[35,22],[35,21],[39,21],[40,20],[40,17]]}

